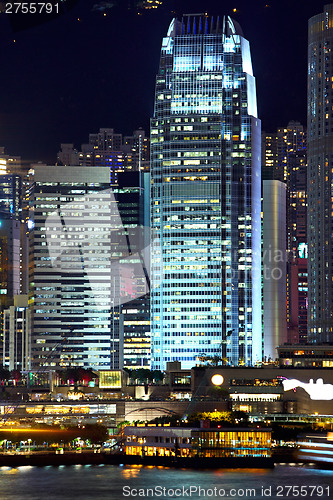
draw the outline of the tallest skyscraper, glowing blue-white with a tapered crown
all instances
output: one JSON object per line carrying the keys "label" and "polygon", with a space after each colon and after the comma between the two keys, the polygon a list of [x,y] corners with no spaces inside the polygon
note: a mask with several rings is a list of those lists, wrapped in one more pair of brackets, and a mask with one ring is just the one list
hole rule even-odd
{"label": "tallest skyscraper, glowing blue-white with a tapered crown", "polygon": [[262,359],[260,134],[240,26],[174,19],[151,122],[153,368]]}

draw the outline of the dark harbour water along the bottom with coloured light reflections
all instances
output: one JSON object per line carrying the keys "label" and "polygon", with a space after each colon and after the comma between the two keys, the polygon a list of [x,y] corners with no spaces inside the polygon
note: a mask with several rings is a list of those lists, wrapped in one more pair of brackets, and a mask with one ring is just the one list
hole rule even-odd
{"label": "dark harbour water along the bottom with coloured light reflections", "polygon": [[224,497],[330,499],[333,471],[299,465],[276,465],[273,470],[113,465],[0,468],[1,500]]}

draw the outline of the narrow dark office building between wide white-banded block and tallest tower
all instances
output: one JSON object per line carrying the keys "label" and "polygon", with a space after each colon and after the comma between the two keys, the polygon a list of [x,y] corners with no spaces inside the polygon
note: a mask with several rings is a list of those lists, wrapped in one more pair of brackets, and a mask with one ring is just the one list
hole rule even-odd
{"label": "narrow dark office building between wide white-banded block and tallest tower", "polygon": [[130,245],[127,266],[132,269],[123,286],[133,299],[119,305],[122,359],[127,368],[150,368],[150,174],[120,173],[113,191]]}

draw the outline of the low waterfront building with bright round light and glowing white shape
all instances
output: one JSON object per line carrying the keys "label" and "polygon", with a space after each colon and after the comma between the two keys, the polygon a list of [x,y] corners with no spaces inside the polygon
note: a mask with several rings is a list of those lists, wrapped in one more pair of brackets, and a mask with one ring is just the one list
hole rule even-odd
{"label": "low waterfront building with bright round light and glowing white shape", "polygon": [[196,367],[191,371],[192,401],[220,387],[229,393],[230,409],[249,415],[332,416],[333,371],[315,366]]}

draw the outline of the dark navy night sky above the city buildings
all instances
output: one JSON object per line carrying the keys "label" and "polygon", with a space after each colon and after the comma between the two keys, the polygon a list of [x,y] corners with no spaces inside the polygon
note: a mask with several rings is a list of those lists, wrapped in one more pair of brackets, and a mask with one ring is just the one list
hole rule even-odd
{"label": "dark navy night sky above the city buildings", "polygon": [[66,13],[35,18],[32,27],[28,18],[10,24],[0,14],[0,146],[7,153],[54,163],[60,143],[80,148],[101,127],[148,132],[162,37],[183,13],[239,21],[263,130],[292,119],[306,124],[307,21],[329,2],[164,0],[138,15],[135,0],[71,1]]}

